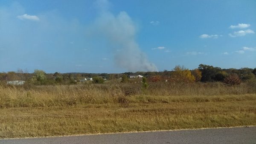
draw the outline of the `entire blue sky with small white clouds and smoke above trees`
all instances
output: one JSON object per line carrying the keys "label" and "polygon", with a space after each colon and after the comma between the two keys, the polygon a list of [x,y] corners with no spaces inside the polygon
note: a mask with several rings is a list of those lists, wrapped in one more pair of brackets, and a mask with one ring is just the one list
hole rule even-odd
{"label": "entire blue sky with small white clouds and smoke above trees", "polygon": [[255,0],[0,0],[0,72],[256,67]]}

